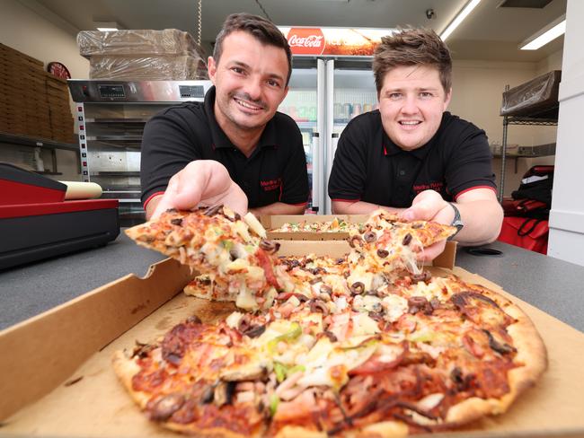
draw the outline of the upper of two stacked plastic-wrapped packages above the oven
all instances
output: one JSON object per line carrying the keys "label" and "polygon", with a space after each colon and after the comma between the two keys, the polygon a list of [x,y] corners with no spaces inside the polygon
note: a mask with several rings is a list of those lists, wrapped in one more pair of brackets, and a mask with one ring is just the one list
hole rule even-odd
{"label": "upper of two stacked plastic-wrapped packages above the oven", "polygon": [[80,31],[77,34],[79,54],[83,57],[137,55],[193,55],[202,51],[190,33],[177,29],[164,31]]}

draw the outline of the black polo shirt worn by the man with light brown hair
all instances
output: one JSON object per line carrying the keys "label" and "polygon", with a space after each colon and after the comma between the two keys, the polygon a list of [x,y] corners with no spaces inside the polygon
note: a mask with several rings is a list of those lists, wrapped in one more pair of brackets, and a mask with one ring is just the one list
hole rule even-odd
{"label": "black polo shirt worn by the man with light brown hair", "polygon": [[385,134],[379,110],[353,118],[334,155],[329,196],[408,207],[421,191],[447,201],[471,188],[496,189],[491,151],[482,129],[445,112],[430,141],[407,152]]}

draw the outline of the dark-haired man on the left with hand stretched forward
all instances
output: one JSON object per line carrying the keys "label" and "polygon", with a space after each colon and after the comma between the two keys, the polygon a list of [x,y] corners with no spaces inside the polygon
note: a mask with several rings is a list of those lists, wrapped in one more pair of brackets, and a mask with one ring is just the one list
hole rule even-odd
{"label": "dark-haired man on the left with hand stretched forward", "polygon": [[205,101],[165,109],[142,138],[146,218],[223,203],[256,215],[302,214],[308,176],[302,135],[277,112],[292,72],[288,41],[270,21],[229,15],[217,35]]}

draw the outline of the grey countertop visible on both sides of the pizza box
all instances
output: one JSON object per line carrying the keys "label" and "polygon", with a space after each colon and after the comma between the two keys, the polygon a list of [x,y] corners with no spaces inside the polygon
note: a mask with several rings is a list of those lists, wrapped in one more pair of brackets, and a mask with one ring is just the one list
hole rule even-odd
{"label": "grey countertop visible on both sides of the pizza box", "polygon": [[[584,331],[584,267],[499,241],[500,256],[458,250],[456,265],[484,276],[521,300]],[[164,256],[120,233],[108,245],[0,271],[0,329],[130,273],[144,276]]]}

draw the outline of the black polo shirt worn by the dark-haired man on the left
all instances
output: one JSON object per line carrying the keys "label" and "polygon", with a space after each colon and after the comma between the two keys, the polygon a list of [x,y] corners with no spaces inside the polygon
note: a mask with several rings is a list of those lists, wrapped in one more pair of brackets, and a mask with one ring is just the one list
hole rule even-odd
{"label": "black polo shirt worn by the dark-haired man on the left", "polygon": [[247,158],[227,138],[215,118],[215,87],[204,102],[164,109],[151,118],[142,137],[142,202],[166,189],[171,177],[194,160],[215,160],[247,195],[250,208],[308,200],[302,135],[296,122],[277,112]]}

